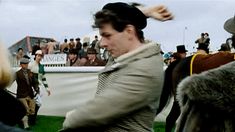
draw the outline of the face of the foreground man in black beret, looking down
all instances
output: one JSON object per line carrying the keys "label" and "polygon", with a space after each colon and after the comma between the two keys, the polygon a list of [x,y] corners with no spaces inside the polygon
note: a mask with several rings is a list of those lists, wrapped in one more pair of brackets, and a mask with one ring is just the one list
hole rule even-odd
{"label": "face of the foreground man in black beret, looking down", "polygon": [[102,36],[100,46],[106,48],[112,57],[119,57],[129,51],[128,33],[116,31],[111,24],[104,24],[99,29]]}

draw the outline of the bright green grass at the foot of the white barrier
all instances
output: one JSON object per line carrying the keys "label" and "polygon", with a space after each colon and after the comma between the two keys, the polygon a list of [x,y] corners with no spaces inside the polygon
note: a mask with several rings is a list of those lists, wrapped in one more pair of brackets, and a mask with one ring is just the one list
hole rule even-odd
{"label": "bright green grass at the foot of the white barrier", "polygon": [[[32,132],[57,132],[62,128],[62,123],[64,117],[58,116],[43,116],[39,115],[37,117],[37,123],[34,126],[31,126]],[[164,132],[165,123],[164,122],[155,122],[154,123],[154,132]]]}

